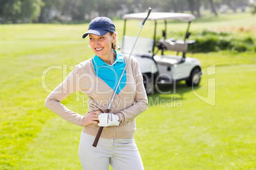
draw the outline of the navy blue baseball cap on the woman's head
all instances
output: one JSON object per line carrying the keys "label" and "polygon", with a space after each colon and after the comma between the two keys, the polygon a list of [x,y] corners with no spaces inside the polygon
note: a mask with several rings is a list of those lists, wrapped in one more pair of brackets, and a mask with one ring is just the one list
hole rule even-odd
{"label": "navy blue baseball cap on the woman's head", "polygon": [[83,34],[83,38],[85,38],[88,34],[104,36],[109,31],[115,32],[115,24],[113,21],[106,16],[96,17],[90,22],[88,31]]}

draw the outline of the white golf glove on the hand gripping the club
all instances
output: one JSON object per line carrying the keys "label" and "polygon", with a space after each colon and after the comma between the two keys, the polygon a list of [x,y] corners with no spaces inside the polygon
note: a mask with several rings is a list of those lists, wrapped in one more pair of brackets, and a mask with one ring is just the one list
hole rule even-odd
{"label": "white golf glove on the hand gripping the club", "polygon": [[120,124],[118,115],[115,114],[99,114],[99,124],[98,126],[118,126]]}

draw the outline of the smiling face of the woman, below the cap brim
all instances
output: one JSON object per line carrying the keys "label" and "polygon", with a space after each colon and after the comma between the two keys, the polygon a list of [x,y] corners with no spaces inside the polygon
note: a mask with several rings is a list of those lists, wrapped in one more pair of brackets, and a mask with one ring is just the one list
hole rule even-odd
{"label": "smiling face of the woman, below the cap brim", "polygon": [[117,34],[110,35],[110,32],[104,36],[89,34],[89,44],[92,51],[100,58],[110,58],[112,55],[112,43],[115,42]]}

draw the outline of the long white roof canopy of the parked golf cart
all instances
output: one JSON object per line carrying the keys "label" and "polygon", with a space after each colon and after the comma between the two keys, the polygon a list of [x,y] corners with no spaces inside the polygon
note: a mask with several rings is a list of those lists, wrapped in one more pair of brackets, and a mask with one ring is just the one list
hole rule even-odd
{"label": "long white roof canopy of the parked golf cart", "polygon": [[[124,20],[144,20],[147,13],[130,13],[123,16]],[[182,22],[190,22],[196,17],[190,13],[161,13],[152,12],[148,16],[148,20],[180,20]]]}

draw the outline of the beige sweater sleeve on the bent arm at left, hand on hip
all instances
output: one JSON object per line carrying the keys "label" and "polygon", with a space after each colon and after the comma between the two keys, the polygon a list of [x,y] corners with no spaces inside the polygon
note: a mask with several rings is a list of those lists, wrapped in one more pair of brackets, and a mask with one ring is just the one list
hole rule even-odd
{"label": "beige sweater sleeve on the bent arm at left, hand on hip", "polygon": [[76,80],[78,74],[78,66],[66,77],[66,79],[55,88],[45,100],[45,106],[55,112],[66,121],[69,121],[78,126],[82,126],[83,115],[77,114],[69,110],[62,103],[66,97],[75,91],[80,91],[80,83]]}

